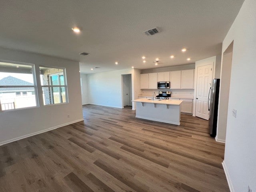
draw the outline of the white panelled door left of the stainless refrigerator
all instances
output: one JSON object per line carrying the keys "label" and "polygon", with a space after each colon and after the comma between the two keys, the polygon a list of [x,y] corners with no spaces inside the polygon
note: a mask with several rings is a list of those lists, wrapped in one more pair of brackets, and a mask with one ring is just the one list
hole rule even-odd
{"label": "white panelled door left of the stainless refrigerator", "polygon": [[208,92],[212,82],[212,64],[197,68],[196,116],[209,120]]}

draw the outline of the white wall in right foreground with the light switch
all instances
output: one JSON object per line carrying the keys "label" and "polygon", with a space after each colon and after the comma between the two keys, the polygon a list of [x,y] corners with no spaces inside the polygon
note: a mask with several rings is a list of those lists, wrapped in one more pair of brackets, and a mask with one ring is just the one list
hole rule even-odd
{"label": "white wall in right foreground with the light switch", "polygon": [[235,192],[256,192],[255,21],[256,2],[245,0],[222,44],[223,52],[234,40],[223,164]]}

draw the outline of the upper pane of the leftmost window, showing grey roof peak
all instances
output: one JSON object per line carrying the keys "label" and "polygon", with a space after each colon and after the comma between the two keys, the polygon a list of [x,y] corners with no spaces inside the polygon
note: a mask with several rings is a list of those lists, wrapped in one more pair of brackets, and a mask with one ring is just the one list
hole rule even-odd
{"label": "upper pane of the leftmost window, showing grey roof peak", "polygon": [[33,86],[32,66],[0,62],[0,86]]}

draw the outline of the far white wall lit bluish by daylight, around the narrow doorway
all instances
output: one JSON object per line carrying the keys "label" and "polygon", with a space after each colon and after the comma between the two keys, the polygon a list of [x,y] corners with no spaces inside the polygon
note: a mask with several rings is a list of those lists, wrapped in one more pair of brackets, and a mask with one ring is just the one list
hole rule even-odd
{"label": "far white wall lit bluish by daylight, around the narrow doorway", "polygon": [[[90,104],[122,108],[122,74],[132,74],[134,69],[88,74],[88,98]],[[133,85],[134,87],[134,85]],[[134,92],[132,93],[134,95]]]}

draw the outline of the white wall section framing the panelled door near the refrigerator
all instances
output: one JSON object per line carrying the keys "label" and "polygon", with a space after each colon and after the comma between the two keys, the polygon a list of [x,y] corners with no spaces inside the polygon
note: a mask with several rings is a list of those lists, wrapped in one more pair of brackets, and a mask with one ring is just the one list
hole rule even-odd
{"label": "white wall section framing the panelled door near the refrigerator", "polygon": [[196,64],[195,64],[195,78],[194,78],[195,92],[194,92],[194,103],[193,103],[193,116],[195,116],[195,114],[196,114],[197,68],[200,66],[208,65],[208,64],[212,64],[212,66],[213,66],[212,78],[214,79],[215,71],[216,71],[216,69],[215,69],[216,68],[216,56],[196,61]]}

